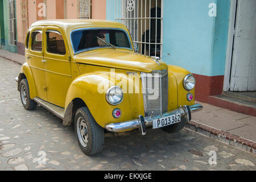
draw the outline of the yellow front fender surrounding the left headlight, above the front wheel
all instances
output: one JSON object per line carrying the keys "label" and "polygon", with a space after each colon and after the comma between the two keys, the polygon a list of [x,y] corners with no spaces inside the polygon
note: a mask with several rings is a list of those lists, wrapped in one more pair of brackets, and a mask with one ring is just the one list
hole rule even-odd
{"label": "yellow front fender surrounding the left headlight, above the front wheel", "polygon": [[[108,73],[85,73],[80,75],[69,86],[65,100],[65,114],[63,125],[71,124],[72,102],[77,98],[84,101],[95,121],[101,127],[108,123],[123,122],[133,116],[130,109],[129,94],[124,93],[123,101],[117,106],[106,101],[106,91],[110,86],[117,85],[118,79],[112,79]],[[115,119],[112,115],[114,109],[121,109],[122,116]]]}

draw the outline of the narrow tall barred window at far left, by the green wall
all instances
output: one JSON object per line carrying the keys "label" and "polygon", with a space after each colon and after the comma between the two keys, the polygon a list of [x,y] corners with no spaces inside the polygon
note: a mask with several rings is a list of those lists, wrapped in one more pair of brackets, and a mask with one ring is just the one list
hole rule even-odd
{"label": "narrow tall barred window at far left, by the green wall", "polygon": [[9,44],[16,46],[16,14],[15,0],[9,1]]}

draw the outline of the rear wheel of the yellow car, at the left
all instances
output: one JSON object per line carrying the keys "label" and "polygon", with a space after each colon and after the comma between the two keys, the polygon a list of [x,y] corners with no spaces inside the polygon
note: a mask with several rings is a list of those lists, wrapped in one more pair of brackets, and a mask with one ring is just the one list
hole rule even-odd
{"label": "rear wheel of the yellow car, at the left", "polygon": [[20,89],[20,100],[22,101],[22,105],[26,110],[33,110],[38,105],[34,100],[30,98],[30,88],[28,86],[27,79],[24,78],[20,81],[19,84]]}

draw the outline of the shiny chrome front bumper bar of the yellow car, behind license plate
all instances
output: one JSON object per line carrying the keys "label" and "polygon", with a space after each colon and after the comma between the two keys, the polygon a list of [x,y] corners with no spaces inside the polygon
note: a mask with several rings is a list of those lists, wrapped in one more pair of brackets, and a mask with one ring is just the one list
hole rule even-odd
{"label": "shiny chrome front bumper bar of the yellow car, behind license plate", "polygon": [[[196,104],[193,106],[189,106],[189,108],[191,109],[192,113],[195,113],[197,111],[200,111],[203,109],[203,106],[201,104]],[[144,121],[145,121],[145,125],[147,126],[152,126],[153,121],[155,119],[158,118],[162,118],[162,117],[168,117],[168,115],[172,115],[172,114],[180,114],[181,117],[184,117],[187,113],[187,110],[184,110],[182,108],[180,109],[176,109],[173,111],[168,111],[167,113],[164,114],[160,114],[157,116],[149,116],[149,117],[145,117]],[[124,130],[130,130],[130,129],[138,129],[141,127],[141,122],[139,121],[139,119],[133,119],[130,121],[126,121],[126,122],[121,122],[121,123],[111,123],[109,125],[105,126],[105,129],[111,132],[118,132],[118,131],[124,131]]]}

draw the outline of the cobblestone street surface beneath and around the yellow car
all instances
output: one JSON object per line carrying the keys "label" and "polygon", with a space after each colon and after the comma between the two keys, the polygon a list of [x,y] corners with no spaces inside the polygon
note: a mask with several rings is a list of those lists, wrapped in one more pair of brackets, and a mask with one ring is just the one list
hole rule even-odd
{"label": "cobblestone street surface beneath and around the yellow car", "polygon": [[[20,65],[0,58],[0,170],[256,170],[256,155],[183,129],[105,138],[102,154],[84,155],[73,126],[43,109],[27,111],[15,77]],[[46,164],[39,164],[40,151]],[[210,166],[210,151],[217,164]]]}

